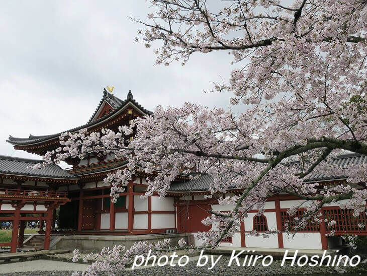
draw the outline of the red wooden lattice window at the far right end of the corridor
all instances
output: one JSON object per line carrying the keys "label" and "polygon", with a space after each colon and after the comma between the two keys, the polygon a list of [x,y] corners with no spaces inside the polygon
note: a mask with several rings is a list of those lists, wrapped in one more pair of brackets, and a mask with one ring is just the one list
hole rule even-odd
{"label": "red wooden lattice window at the far right end of the corridor", "polygon": [[366,222],[366,215],[361,212],[358,217],[353,216],[353,210],[335,208],[331,210],[324,210],[325,219],[328,221],[336,221],[332,227],[326,224],[326,229],[331,231],[360,231],[358,223],[364,224]]}

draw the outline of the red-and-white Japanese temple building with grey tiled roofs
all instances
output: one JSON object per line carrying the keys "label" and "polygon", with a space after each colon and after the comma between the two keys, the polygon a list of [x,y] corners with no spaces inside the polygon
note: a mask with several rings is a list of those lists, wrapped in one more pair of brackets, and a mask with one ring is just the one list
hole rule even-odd
{"label": "red-and-white Japanese temple building with grey tiled roofs", "polygon": [[[69,129],[74,132],[81,128],[90,131],[101,131],[109,128],[117,131],[118,126],[129,124],[134,119],[152,112],[142,107],[129,91],[127,98],[121,100],[104,90],[101,102],[89,121],[79,127]],[[37,129],[44,131],[44,129]],[[62,132],[65,132],[62,131]],[[16,150],[23,150],[36,155],[44,155],[47,151],[60,147],[59,136],[62,133],[26,138],[9,136],[7,142]],[[132,139],[132,137],[131,137]],[[44,249],[50,247],[51,234],[59,235],[139,235],[159,233],[197,233],[207,231],[201,221],[206,218],[208,210],[230,211],[233,206],[218,204],[219,196],[239,194],[241,190],[228,189],[225,194],[218,194],[213,199],[205,199],[209,194],[209,185],[213,181],[209,175],[190,181],[188,175],[178,175],[171,184],[167,195],[160,199],[157,193],[147,199],[141,199],[147,189],[147,177],[154,176],[137,172],[124,193],[120,194],[116,203],[111,202],[110,186],[103,182],[107,174],[116,172],[127,166],[125,159],[116,159],[113,154],[100,157],[88,155],[85,159],[70,159],[66,162],[68,169],[56,165],[38,170],[29,166],[40,160],[30,160],[0,156],[0,221],[12,221],[13,235],[11,251],[23,247],[24,224],[28,220],[40,220],[46,223],[44,233]],[[349,154],[339,156],[333,164],[346,165],[367,163],[367,156]],[[306,182],[322,184],[346,183],[347,176],[330,176],[325,174],[311,175]],[[325,223],[309,224],[303,231],[290,236],[285,233],[285,225],[295,217],[302,216],[300,208],[295,216],[287,210],[296,202],[304,200],[290,195],[273,195],[268,197],[266,210],[257,216],[252,210],[241,223],[233,237],[226,237],[221,245],[264,248],[302,248],[328,249],[342,243],[341,235],[367,235],[365,229],[357,224],[365,222],[365,215],[353,217],[349,210],[342,210],[337,204],[329,204],[323,208],[324,216],[336,220],[333,226],[335,237],[326,237],[330,229]],[[305,202],[307,204],[307,202]],[[58,229],[55,229],[56,210],[59,209]],[[216,227],[216,226],[213,226]],[[19,228],[19,234],[18,234]],[[282,233],[270,235],[269,238],[254,237],[250,232],[265,233],[281,230]],[[18,236],[18,239],[17,239]],[[194,239],[196,245],[202,241]]]}

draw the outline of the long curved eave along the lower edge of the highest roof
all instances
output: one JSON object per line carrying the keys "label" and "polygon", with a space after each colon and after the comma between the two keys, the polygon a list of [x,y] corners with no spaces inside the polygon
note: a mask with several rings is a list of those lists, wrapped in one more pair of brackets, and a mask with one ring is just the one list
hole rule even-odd
{"label": "long curved eave along the lower edge of the highest roof", "polygon": [[[115,119],[116,117],[118,117],[122,112],[126,111],[128,109],[128,107],[131,106],[132,108],[134,108],[136,111],[138,111],[138,113],[140,113],[141,115],[148,115],[149,113],[145,113],[141,108],[139,108],[137,105],[135,105],[132,101],[128,101],[125,105],[123,105],[122,107],[120,107],[119,109],[116,109],[112,112],[110,112],[109,114],[101,117],[100,119],[69,129],[69,130],[65,130],[56,134],[50,134],[50,135],[44,135],[44,136],[33,136],[30,135],[30,137],[40,137],[37,138],[35,140],[30,140],[29,138],[17,138],[17,137],[13,137],[10,136],[10,139],[6,140],[8,143],[16,146],[18,149],[23,149],[23,148],[27,148],[30,146],[37,146],[37,145],[42,145],[44,143],[47,142],[51,142],[55,139],[57,139],[57,143],[58,143],[58,137],[60,136],[61,133],[64,133],[66,131],[69,132],[76,132],[82,128],[97,128],[97,127],[101,127],[101,125],[105,125],[106,123],[108,123],[110,120]],[[39,148],[42,148],[41,146]]]}

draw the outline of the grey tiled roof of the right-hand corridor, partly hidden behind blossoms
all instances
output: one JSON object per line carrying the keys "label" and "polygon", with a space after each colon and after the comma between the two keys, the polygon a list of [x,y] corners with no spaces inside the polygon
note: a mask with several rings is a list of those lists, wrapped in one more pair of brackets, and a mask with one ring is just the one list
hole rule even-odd
{"label": "grey tiled roof of the right-hand corridor, partly hidden behind blossoms", "polygon": [[[358,166],[360,164],[365,163],[367,163],[367,155],[351,153],[340,155],[337,158],[334,158],[328,163],[328,165],[338,165],[342,167],[348,164]],[[307,179],[304,179],[304,182],[346,179],[347,177],[348,176],[346,175],[326,175],[324,173],[311,173],[307,176]],[[213,183],[213,181],[214,178],[212,176],[203,175],[197,180],[181,183],[172,183],[170,185],[168,192],[207,191],[210,187],[210,184]],[[229,188],[235,188],[235,185],[229,185]]]}

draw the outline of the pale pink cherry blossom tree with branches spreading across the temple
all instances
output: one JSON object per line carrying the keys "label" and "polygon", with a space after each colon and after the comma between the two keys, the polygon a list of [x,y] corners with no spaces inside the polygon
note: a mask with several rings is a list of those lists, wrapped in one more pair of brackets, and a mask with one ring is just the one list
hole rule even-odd
{"label": "pale pink cherry blossom tree with branches spreading across the temple", "polygon": [[228,52],[231,78],[213,91],[229,91],[230,102],[245,111],[193,103],[158,106],[154,116],[137,118],[118,132],[64,133],[61,147],[47,153],[43,165],[91,152],[127,158],[126,169],[105,179],[115,200],[137,171],[157,172],[148,179],[146,197],[154,191],[163,197],[179,173],[193,180],[212,175],[211,195],[235,185],[239,195],[219,199],[233,210],[212,212],[203,221],[222,222],[220,229],[198,234],[204,246],[217,246],[249,210],[256,206],[261,214],[266,198],[278,193],[312,202],[290,231],[321,221],[320,209],[330,202],[342,202],[358,216],[366,212],[365,184],[323,186],[304,179],[337,172],[348,175],[348,183],[367,180],[366,166],[327,165],[343,151],[367,154],[366,5],[365,0],[152,1],[146,20],[132,19],[146,28],[136,41],[147,48],[158,43],[156,63],[164,65]]}

